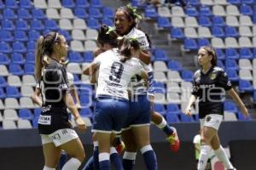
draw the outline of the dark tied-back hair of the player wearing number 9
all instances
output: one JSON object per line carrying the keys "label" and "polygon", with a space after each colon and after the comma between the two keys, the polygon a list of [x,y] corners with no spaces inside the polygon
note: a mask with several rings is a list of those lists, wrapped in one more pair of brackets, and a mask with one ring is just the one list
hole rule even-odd
{"label": "dark tied-back hair of the player wearing number 9", "polygon": [[131,48],[134,50],[140,49],[140,43],[136,39],[122,37],[119,40],[119,53],[123,56],[120,59],[121,62],[125,63],[126,60],[131,59]]}

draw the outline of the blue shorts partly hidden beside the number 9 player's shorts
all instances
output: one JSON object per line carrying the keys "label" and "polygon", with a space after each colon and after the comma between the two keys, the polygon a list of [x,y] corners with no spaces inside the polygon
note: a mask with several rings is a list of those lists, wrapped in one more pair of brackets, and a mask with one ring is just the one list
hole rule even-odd
{"label": "blue shorts partly hidden beside the number 9 player's shorts", "polygon": [[147,95],[135,96],[137,100],[130,101],[130,111],[123,130],[128,130],[131,127],[140,127],[150,125],[150,102]]}

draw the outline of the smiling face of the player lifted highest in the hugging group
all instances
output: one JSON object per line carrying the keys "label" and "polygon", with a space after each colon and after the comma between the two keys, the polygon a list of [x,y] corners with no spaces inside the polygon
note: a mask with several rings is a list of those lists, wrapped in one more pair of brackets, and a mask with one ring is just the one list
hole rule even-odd
{"label": "smiling face of the player lifted highest in the hugging group", "polygon": [[131,30],[133,25],[133,20],[124,10],[117,10],[114,15],[114,26],[120,35],[125,35],[128,31]]}

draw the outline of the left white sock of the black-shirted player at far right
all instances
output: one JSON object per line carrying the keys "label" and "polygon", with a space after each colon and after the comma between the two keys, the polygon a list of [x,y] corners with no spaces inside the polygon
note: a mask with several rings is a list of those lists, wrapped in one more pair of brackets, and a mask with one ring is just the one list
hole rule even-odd
{"label": "left white sock of the black-shirted player at far right", "polygon": [[211,146],[209,145],[201,145],[201,152],[198,159],[197,169],[204,170],[207,166],[208,155],[211,151]]}

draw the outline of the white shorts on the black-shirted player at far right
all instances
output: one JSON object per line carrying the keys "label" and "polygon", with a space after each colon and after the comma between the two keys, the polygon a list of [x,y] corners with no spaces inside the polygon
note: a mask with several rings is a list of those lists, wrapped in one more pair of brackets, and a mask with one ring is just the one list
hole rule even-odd
{"label": "white shorts on the black-shirted player at far right", "polygon": [[210,114],[205,116],[205,118],[200,119],[200,127],[212,127],[215,128],[216,130],[218,130],[218,127],[220,125],[220,123],[223,120],[223,116],[222,115],[217,115],[217,114]]}

